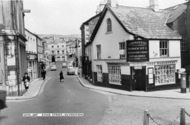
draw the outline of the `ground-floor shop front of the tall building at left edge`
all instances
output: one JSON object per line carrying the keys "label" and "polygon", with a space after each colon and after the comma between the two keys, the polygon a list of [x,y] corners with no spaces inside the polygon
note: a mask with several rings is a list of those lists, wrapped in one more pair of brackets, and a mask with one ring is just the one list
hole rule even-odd
{"label": "ground-floor shop front of the tall building at left edge", "polygon": [[2,35],[0,54],[1,84],[6,87],[7,95],[21,95],[21,78],[26,71],[25,38],[17,35]]}

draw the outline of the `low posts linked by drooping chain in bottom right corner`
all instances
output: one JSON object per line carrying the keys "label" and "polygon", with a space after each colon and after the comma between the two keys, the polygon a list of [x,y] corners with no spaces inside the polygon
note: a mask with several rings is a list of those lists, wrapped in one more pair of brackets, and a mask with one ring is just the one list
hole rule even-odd
{"label": "low posts linked by drooping chain in bottom right corner", "polygon": [[143,119],[143,125],[149,125],[150,120],[155,124],[155,125],[176,125],[174,123],[177,122],[177,120],[180,119],[179,125],[186,125],[186,119],[185,116],[190,117],[190,113],[188,113],[184,108],[181,108],[179,116],[177,116],[172,122],[169,124],[161,123],[160,121],[156,120],[148,111],[144,111],[144,119]]}

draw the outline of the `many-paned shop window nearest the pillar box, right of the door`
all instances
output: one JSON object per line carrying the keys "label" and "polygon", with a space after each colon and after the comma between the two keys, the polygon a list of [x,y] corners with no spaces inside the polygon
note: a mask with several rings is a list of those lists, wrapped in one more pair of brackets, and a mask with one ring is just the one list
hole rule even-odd
{"label": "many-paned shop window nearest the pillar box, right of the door", "polygon": [[175,65],[155,66],[155,85],[175,83]]}

